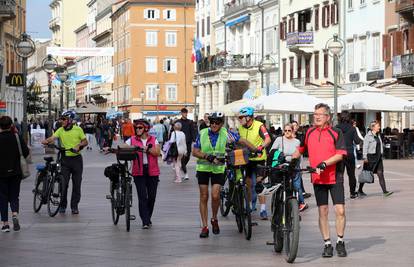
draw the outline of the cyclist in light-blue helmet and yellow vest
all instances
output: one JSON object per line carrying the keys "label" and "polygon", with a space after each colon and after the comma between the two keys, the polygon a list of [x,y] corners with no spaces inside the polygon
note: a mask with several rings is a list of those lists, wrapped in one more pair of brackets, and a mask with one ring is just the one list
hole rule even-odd
{"label": "cyclist in light-blue helmet and yellow vest", "polygon": [[[241,126],[239,127],[240,137],[246,139],[254,146],[258,151],[262,151],[258,156],[249,159],[247,166],[247,185],[250,189],[250,196],[252,201],[252,209],[255,210],[257,194],[255,191],[256,186],[256,170],[258,165],[265,165],[267,154],[265,148],[272,142],[270,135],[267,132],[265,125],[254,119],[254,108],[243,107],[239,111],[239,121]],[[266,211],[266,197],[259,196],[260,203],[260,217],[262,220],[267,220]]]}

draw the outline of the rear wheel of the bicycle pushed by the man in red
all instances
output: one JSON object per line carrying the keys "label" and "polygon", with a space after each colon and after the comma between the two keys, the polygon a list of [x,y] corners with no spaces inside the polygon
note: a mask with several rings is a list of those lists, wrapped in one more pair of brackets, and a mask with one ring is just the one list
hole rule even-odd
{"label": "rear wheel of the bicycle pushed by the man in red", "polygon": [[283,232],[282,232],[282,198],[281,190],[272,195],[272,222],[273,231],[273,249],[280,253],[283,249]]}

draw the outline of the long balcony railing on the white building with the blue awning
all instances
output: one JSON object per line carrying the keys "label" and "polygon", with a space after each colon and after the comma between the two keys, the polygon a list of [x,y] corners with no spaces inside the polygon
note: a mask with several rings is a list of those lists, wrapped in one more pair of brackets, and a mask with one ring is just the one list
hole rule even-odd
{"label": "long balcony railing on the white building with the blue awning", "polygon": [[197,63],[197,72],[215,71],[218,69],[245,69],[257,67],[258,60],[253,54],[246,55],[213,55],[202,58]]}

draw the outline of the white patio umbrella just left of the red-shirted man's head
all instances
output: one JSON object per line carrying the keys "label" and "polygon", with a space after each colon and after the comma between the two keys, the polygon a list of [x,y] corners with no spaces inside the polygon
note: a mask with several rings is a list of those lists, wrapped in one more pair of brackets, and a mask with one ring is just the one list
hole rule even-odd
{"label": "white patio umbrella just left of the red-shirted man's head", "polygon": [[253,104],[261,106],[263,113],[312,113],[315,105],[322,102],[292,85],[281,85],[277,93],[261,96]]}

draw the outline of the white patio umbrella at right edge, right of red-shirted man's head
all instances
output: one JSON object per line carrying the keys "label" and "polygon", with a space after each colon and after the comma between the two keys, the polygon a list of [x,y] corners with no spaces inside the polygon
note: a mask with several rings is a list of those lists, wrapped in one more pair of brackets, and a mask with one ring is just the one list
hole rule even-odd
{"label": "white patio umbrella at right edge, right of red-shirted man's head", "polygon": [[352,93],[338,97],[338,111],[342,110],[410,112],[414,110],[414,103],[384,94],[382,90],[375,87],[363,86]]}

